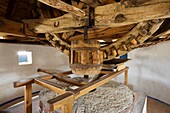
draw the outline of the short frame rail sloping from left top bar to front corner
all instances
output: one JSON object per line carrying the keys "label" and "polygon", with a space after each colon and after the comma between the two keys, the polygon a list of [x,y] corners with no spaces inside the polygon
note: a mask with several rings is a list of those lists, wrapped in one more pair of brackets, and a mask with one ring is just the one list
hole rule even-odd
{"label": "short frame rail sloping from left top bar to front corner", "polygon": [[57,85],[53,82],[43,80],[41,78],[35,78],[34,81],[35,81],[36,84],[44,86],[44,87],[46,87],[46,88],[48,88],[48,89],[50,89],[50,90],[52,90],[56,93],[59,93],[59,94],[65,93],[65,91],[63,90],[64,89],[63,87],[61,87],[61,86],[59,86],[59,85]]}

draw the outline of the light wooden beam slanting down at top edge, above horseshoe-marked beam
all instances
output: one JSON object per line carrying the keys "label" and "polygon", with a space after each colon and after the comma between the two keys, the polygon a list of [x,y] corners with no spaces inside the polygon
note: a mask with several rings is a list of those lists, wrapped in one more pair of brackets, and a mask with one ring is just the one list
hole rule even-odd
{"label": "light wooden beam slanting down at top edge, above horseshoe-marked beam", "polygon": [[65,12],[69,12],[70,14],[74,14],[77,16],[85,16],[85,12],[75,6],[69,5],[61,0],[38,0],[41,3],[44,3],[48,6],[51,6],[56,9],[60,9]]}

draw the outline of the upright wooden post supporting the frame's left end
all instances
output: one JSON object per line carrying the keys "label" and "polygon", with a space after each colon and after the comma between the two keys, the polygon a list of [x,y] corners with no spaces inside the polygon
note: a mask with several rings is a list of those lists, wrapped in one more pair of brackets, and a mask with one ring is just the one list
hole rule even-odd
{"label": "upright wooden post supporting the frame's left end", "polygon": [[32,84],[25,85],[24,105],[24,113],[32,113]]}

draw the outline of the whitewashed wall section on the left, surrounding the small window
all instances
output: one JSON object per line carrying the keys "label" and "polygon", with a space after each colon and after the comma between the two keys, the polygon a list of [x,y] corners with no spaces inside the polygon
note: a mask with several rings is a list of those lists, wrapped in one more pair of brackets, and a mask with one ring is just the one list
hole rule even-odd
{"label": "whitewashed wall section on the left, surrounding the small window", "polygon": [[[33,64],[19,66],[18,51],[32,51]],[[43,75],[38,68],[68,70],[68,63],[68,57],[52,47],[0,43],[0,104],[24,94],[23,88],[13,88],[14,81]],[[36,86],[33,91],[41,88]]]}

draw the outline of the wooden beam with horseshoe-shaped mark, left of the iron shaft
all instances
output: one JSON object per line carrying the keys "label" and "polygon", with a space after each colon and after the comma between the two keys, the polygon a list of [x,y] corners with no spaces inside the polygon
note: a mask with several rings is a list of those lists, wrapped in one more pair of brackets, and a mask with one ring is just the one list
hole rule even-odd
{"label": "wooden beam with horseshoe-shaped mark, left of the iron shaft", "polygon": [[23,22],[28,24],[28,29],[35,33],[69,32],[85,26],[85,20],[71,14],[53,19],[28,19]]}

